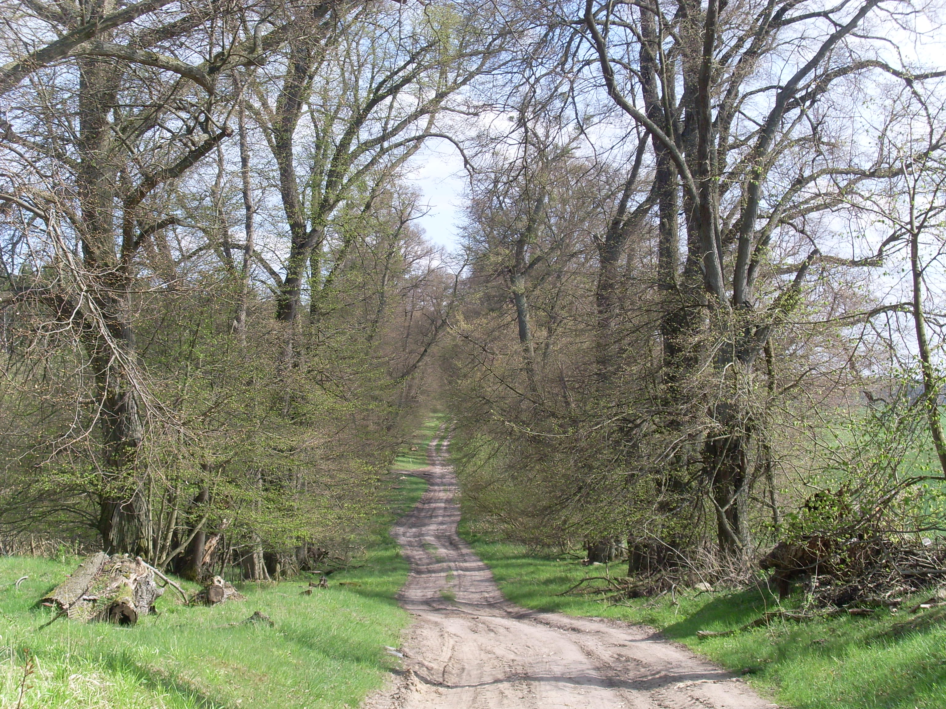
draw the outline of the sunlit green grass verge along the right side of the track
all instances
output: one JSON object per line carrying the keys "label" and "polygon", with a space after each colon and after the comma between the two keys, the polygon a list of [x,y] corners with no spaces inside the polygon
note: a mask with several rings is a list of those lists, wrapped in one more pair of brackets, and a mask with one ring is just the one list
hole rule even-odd
{"label": "sunlit green grass verge along the right side of the track", "polygon": [[[541,557],[519,545],[466,539],[492,569],[502,593],[526,608],[620,618],[659,629],[727,668],[782,706],[797,709],[943,709],[946,707],[946,612],[886,611],[815,622],[777,621],[768,627],[700,639],[696,631],[744,626],[778,599],[758,591],[693,593],[604,605],[556,596],[586,576],[621,576],[621,564],[581,566]],[[921,595],[915,602],[929,597]],[[787,599],[786,608],[800,598]],[[904,603],[904,607],[907,604]]]}

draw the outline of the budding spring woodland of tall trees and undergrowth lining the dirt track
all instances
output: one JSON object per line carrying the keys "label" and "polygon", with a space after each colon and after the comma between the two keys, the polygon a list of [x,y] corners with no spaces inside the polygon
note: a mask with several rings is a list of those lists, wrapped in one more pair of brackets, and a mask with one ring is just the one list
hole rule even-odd
{"label": "budding spring woodland of tall trees and undergrowth lining the dirt track", "polygon": [[935,4],[3,7],[7,554],[351,559],[438,410],[477,529],[628,594],[946,560]]}

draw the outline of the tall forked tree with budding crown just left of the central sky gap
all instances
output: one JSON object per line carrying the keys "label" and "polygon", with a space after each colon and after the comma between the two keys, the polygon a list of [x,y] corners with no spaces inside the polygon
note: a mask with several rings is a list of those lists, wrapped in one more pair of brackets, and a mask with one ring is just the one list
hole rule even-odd
{"label": "tall forked tree with budding crown just left of the central sky gap", "polygon": [[282,76],[255,84],[254,117],[289,225],[276,285],[276,317],[286,322],[299,318],[306,285],[317,317],[336,211],[353,199],[370,209],[423,141],[439,134],[435,120],[447,100],[501,61],[507,42],[505,32],[484,31],[481,12],[447,5],[435,13],[369,7],[340,22],[300,33],[287,46]]}

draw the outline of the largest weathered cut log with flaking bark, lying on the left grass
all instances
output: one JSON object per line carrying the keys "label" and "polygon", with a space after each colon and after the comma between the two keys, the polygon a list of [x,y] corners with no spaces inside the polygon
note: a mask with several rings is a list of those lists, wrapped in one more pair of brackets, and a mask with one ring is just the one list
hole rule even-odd
{"label": "largest weathered cut log with flaking bark, lying on the left grass", "polygon": [[41,602],[58,608],[70,620],[134,625],[154,610],[154,601],[164,592],[141,557],[109,557],[98,552],[80,563],[76,572]]}

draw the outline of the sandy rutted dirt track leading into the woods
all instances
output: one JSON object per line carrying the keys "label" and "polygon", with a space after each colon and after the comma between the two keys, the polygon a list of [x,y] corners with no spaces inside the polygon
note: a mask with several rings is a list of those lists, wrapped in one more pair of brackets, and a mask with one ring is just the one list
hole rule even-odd
{"label": "sandy rutted dirt track leading into the woods", "polygon": [[393,535],[411,563],[415,616],[403,666],[365,709],[762,709],[742,680],[643,626],[527,611],[505,601],[457,535],[449,440],[431,441],[429,487]]}

